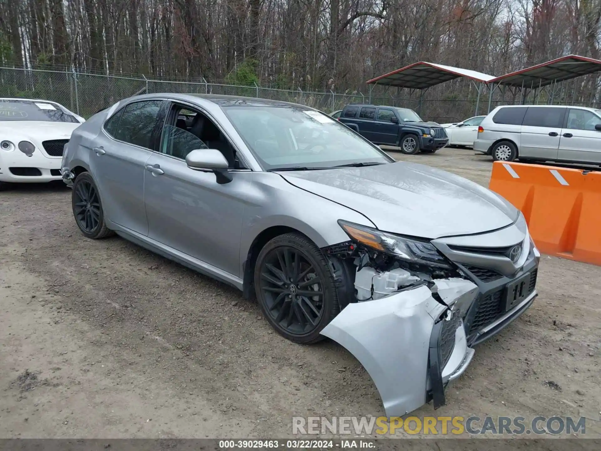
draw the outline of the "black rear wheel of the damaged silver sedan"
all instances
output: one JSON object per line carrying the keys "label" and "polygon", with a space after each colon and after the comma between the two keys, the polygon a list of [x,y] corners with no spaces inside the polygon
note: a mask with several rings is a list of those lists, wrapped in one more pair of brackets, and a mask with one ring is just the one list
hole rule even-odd
{"label": "black rear wheel of the damaged silver sedan", "polygon": [[90,173],[79,174],[73,183],[71,206],[75,222],[87,238],[99,239],[112,235],[105,222],[96,183]]}

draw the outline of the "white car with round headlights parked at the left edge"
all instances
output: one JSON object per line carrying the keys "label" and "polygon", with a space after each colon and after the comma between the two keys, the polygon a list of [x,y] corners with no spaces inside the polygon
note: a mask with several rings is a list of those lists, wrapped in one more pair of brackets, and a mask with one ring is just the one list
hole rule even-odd
{"label": "white car with round headlights parked at the left edge", "polygon": [[83,122],[56,102],[0,98],[0,187],[61,180],[63,147]]}

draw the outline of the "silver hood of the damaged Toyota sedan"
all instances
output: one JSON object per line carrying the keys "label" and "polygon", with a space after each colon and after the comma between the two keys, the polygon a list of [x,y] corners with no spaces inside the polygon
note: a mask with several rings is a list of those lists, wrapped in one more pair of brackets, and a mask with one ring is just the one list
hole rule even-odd
{"label": "silver hood of the damaged Toyota sedan", "polygon": [[379,230],[401,235],[434,239],[489,232],[512,224],[519,215],[477,183],[421,164],[279,174],[298,188],[362,213]]}

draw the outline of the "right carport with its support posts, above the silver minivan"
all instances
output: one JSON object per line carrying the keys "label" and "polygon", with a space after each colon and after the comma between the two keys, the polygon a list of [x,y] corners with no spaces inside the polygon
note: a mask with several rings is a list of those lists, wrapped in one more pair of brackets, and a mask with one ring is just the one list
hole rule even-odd
{"label": "right carport with its support posts, above the silver minivan", "polygon": [[[537,64],[536,66],[526,67],[526,69],[516,70],[516,72],[501,75],[487,82],[490,89],[488,111],[490,112],[492,94],[495,92],[496,88],[518,88],[522,94],[521,103],[524,104],[526,102],[526,97],[528,97],[528,94],[532,91],[534,91],[534,97],[536,97],[538,91],[538,97],[540,98],[540,90],[544,87],[551,87],[549,100],[552,103],[557,91],[558,82],[597,72],[601,72],[600,60],[581,57],[579,55],[567,55],[566,57],[556,58],[555,60],[547,61],[546,63]],[[563,88],[564,84],[562,83],[561,91],[559,93],[560,99],[563,94]]]}

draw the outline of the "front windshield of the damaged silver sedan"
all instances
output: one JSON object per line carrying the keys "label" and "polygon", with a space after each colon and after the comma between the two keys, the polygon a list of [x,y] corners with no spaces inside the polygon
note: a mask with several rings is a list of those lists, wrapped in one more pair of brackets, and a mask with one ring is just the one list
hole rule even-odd
{"label": "front windshield of the damaged silver sedan", "polygon": [[393,160],[319,111],[291,106],[222,106],[261,166],[333,168]]}

